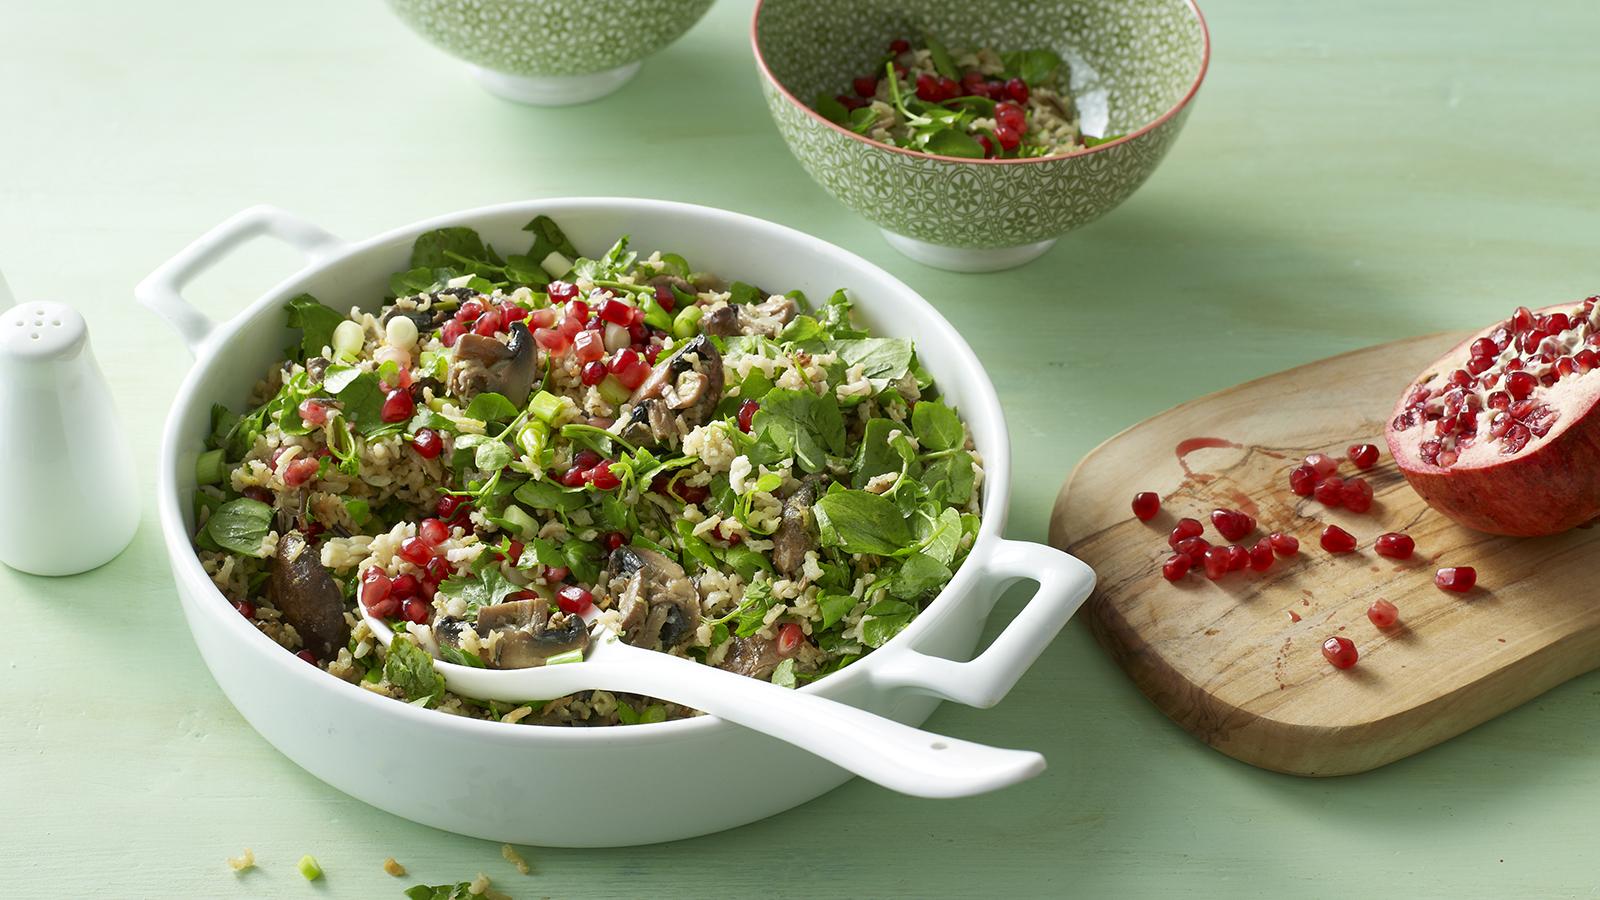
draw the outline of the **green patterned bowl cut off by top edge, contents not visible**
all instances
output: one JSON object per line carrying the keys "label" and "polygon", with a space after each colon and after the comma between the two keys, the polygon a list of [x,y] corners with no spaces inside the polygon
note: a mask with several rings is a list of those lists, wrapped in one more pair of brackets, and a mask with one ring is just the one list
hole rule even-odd
{"label": "green patterned bowl cut off by top edge, contents not visible", "polygon": [[389,0],[400,21],[491,93],[570,106],[621,88],[712,0]]}

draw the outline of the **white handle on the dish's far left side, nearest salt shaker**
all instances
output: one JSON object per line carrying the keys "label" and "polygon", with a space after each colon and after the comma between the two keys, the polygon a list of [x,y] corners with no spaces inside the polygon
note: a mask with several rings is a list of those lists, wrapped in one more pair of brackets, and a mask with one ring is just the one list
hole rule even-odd
{"label": "white handle on the dish's far left side, nearest salt shaker", "polygon": [[307,263],[325,259],[344,248],[342,240],[293,213],[277,207],[251,207],[202,234],[176,256],[162,263],[133,288],[133,296],[166,319],[189,344],[189,351],[198,356],[200,344],[211,335],[216,323],[184,299],[184,285],[219,263],[240,243],[261,235],[275,237],[299,250]]}

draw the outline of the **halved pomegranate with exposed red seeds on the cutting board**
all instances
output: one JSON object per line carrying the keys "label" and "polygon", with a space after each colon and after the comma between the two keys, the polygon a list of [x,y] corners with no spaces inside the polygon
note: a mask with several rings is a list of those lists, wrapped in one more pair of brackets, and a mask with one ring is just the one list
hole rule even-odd
{"label": "halved pomegranate with exposed red seeds on the cutting board", "polygon": [[1518,307],[1406,388],[1384,437],[1456,522],[1554,535],[1600,516],[1600,296]]}

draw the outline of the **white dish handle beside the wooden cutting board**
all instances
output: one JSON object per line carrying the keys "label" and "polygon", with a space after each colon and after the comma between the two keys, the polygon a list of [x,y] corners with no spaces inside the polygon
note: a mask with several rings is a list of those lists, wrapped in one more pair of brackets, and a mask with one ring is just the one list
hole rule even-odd
{"label": "white dish handle beside the wooden cutting board", "polygon": [[1038,589],[976,658],[957,663],[907,647],[874,671],[877,684],[909,687],[968,706],[994,706],[1011,692],[1094,589],[1093,569],[1045,544],[1002,540],[979,565],[984,567],[982,575],[994,580],[994,597],[1022,580],[1037,581]]}

